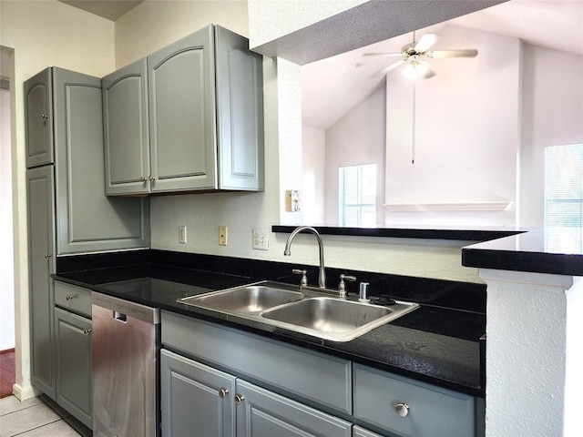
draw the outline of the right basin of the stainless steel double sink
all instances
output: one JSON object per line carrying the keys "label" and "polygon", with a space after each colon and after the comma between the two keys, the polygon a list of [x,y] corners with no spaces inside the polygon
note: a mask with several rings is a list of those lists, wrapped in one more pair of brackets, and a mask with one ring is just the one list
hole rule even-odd
{"label": "right basin of the stainless steel double sink", "polygon": [[391,307],[381,307],[352,300],[318,297],[263,311],[261,317],[276,326],[322,339],[348,341],[415,308],[417,304],[414,303],[398,302]]}

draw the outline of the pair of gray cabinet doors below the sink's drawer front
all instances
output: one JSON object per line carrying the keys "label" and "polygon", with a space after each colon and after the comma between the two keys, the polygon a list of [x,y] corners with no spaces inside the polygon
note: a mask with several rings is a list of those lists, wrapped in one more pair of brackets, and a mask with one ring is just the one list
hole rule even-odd
{"label": "pair of gray cabinet doors below the sink's drawer front", "polygon": [[162,435],[351,435],[349,422],[171,351],[160,364]]}

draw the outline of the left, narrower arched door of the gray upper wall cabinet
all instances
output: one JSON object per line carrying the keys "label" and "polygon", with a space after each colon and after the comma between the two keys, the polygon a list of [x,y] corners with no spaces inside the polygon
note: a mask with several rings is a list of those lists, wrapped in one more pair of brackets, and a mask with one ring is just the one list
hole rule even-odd
{"label": "left, narrower arched door of the gray upper wall cabinet", "polygon": [[103,77],[106,194],[149,192],[146,58]]}

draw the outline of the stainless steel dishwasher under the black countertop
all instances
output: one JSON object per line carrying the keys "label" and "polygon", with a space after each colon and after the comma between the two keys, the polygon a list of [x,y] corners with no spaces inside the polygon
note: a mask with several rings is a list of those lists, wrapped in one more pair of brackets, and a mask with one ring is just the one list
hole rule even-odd
{"label": "stainless steel dishwasher under the black countertop", "polygon": [[92,293],[93,435],[159,436],[159,310]]}

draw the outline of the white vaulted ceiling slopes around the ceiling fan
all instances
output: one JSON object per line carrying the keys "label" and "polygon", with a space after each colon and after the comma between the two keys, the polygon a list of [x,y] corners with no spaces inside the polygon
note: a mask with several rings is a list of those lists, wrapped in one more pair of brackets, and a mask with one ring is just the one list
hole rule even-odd
{"label": "white vaulted ceiling slopes around the ceiling fan", "polygon": [[[446,22],[527,44],[583,56],[583,2],[573,0],[510,0]],[[439,33],[434,25],[418,32]],[[383,76],[371,78],[382,67],[356,67],[366,52],[395,52],[411,43],[412,35],[397,36],[338,56],[302,66],[302,117],[305,126],[326,130],[381,86]],[[438,44],[435,49],[440,49]],[[466,47],[455,47],[466,48]],[[369,58],[370,59],[370,58]],[[386,65],[395,58],[388,58]],[[382,62],[383,59],[381,58]],[[375,60],[378,65],[378,59]],[[431,79],[429,79],[431,80]]]}

